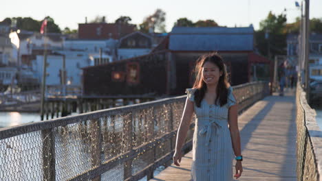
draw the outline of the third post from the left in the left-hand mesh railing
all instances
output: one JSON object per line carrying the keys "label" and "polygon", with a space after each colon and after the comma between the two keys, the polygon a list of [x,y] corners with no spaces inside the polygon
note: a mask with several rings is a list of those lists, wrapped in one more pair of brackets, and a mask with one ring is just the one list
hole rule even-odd
{"label": "third post from the left in the left-hand mesh railing", "polygon": [[[124,145],[125,145],[125,152],[130,152],[133,150],[133,117],[134,117],[134,111],[131,111],[129,113],[129,117],[127,119],[126,115],[123,115],[123,123],[124,123]],[[132,176],[132,162],[133,158],[127,160],[124,162],[124,180],[127,178],[130,178]]]}

